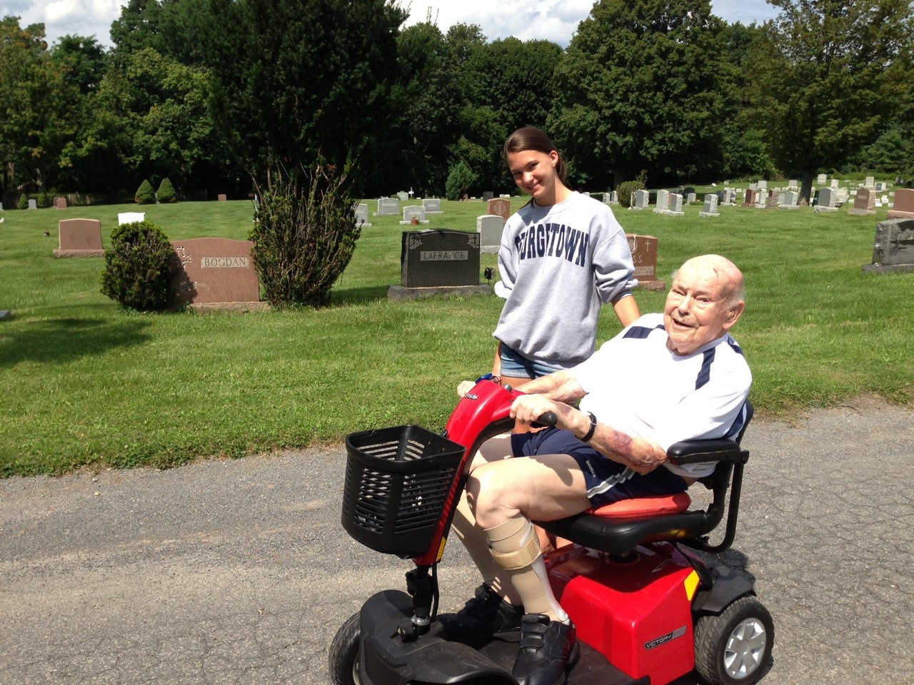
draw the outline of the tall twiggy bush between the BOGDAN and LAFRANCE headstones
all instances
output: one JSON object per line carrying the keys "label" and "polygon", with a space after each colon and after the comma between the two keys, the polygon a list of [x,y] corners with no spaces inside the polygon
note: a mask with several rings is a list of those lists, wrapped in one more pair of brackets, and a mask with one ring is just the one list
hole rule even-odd
{"label": "tall twiggy bush between the BOGDAN and LAFRANCE headstones", "polygon": [[314,172],[280,169],[269,189],[257,188],[251,256],[274,306],[330,304],[361,233],[350,183],[347,172],[318,165]]}

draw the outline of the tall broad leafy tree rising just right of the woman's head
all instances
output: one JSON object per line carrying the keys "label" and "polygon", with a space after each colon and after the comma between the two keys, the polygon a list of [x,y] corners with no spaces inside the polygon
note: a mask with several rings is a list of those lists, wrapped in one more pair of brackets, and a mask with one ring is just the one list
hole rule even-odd
{"label": "tall broad leafy tree rising just right of the woman's head", "polygon": [[707,0],[600,0],[558,65],[549,117],[579,181],[696,173],[717,157],[722,21]]}

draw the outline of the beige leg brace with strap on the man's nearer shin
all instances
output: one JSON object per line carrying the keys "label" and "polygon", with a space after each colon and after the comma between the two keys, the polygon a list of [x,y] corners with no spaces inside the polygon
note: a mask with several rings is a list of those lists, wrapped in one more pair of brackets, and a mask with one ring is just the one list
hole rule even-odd
{"label": "beige leg brace with strap on the man's nearer shin", "polygon": [[501,525],[485,531],[495,564],[505,570],[520,595],[527,614],[546,614],[553,620],[567,621],[558,605],[546,574],[546,564],[539,552],[539,540],[533,524],[518,514]]}

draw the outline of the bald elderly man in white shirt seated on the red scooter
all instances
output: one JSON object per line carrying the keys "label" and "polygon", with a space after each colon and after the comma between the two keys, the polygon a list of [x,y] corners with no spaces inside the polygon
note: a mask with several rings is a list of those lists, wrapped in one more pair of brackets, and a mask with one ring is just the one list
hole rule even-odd
{"label": "bald elderly man in white shirt seated on the red scooter", "polygon": [[[529,423],[554,412],[558,425],[494,437],[473,458],[454,530],[484,584],[459,613],[441,617],[452,638],[519,628],[518,682],[563,677],[577,659],[575,630],[549,587],[531,520],[679,492],[714,469],[674,466],[666,449],[741,427],[752,378],[728,331],[743,297],[742,274],[728,259],[689,259],[663,314],[641,317],[586,362],[524,386],[511,416]],[[462,383],[458,394],[470,387]]]}

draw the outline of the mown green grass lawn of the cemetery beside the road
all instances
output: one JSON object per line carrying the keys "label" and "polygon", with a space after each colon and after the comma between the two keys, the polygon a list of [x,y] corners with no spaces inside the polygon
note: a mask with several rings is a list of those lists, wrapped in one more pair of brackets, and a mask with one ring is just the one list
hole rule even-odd
{"label": "mown green grass lawn of the cemetery beside the road", "polygon": [[[442,201],[428,227],[474,230],[484,206]],[[386,299],[399,283],[401,232],[413,229],[396,216],[371,217],[327,309],[121,311],[101,295],[102,258],[52,251],[62,218],[100,219],[108,245],[117,214],[138,209],[171,239],[247,238],[253,216],[246,201],[0,214],[0,310],[13,312],[0,321],[0,474],[165,468],[335,443],[369,427],[440,430],[457,383],[491,365],[501,300]],[[790,418],[861,393],[912,402],[914,274],[861,270],[885,208],[861,217],[721,207],[715,219],[699,218],[700,209],[616,213],[627,232],[659,239],[661,278],[705,252],[743,269],[747,312],[734,334],[761,415]],[[482,262],[495,266],[495,257]],[[642,311],[663,306],[663,293],[636,296]],[[600,339],[618,330],[608,308]]]}

